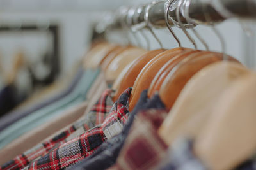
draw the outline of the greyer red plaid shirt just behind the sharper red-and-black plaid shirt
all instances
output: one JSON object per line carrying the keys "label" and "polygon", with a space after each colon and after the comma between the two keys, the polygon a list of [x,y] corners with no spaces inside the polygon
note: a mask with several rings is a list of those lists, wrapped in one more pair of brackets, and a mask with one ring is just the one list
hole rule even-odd
{"label": "greyer red plaid shirt just behind the sharper red-and-black plaid shirt", "polygon": [[27,152],[18,155],[13,160],[10,160],[4,164],[0,169],[21,169],[26,167],[33,160],[46,155],[54,148],[58,148],[58,146],[62,145],[66,141],[69,141],[70,138],[68,137],[76,138],[95,125],[102,124],[108,115],[107,113],[109,113],[111,107],[113,106],[113,101],[111,99],[112,95],[113,90],[105,90],[99,101],[97,101],[97,103],[92,107],[92,110],[90,110],[90,112],[84,116],[83,120],[78,120],[72,126],[68,127],[68,129],[56,135],[54,138],[36,145]]}

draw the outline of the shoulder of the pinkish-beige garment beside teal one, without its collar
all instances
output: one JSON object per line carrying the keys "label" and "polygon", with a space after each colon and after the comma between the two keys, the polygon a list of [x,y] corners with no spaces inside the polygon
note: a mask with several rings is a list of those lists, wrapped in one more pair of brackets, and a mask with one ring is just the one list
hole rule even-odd
{"label": "shoulder of the pinkish-beige garment beside teal one, without its collar", "polygon": [[16,139],[9,145],[6,145],[0,152],[0,165],[13,159],[16,155],[29,150],[54,132],[76,122],[80,117],[83,117],[86,106],[87,102],[78,104],[72,109],[65,111],[61,117],[50,120],[44,125],[33,129],[33,131],[20,136],[20,138]]}

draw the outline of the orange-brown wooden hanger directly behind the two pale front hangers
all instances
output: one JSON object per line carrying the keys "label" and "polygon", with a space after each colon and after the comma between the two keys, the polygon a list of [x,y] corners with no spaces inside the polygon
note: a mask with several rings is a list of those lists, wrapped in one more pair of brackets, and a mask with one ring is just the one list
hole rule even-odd
{"label": "orange-brown wooden hanger directly behind the two pale front hangers", "polygon": [[[200,57],[200,60],[196,60],[198,57]],[[229,57],[229,59],[236,60],[232,57]],[[186,60],[191,60],[191,62],[186,62]],[[177,66],[178,68],[176,67],[175,69],[172,69],[164,79],[159,90],[159,97],[165,104],[166,108],[168,110],[172,108],[173,103],[180,94],[180,91],[197,71],[220,60],[223,60],[222,53],[209,53],[205,54],[204,57],[200,55],[193,55],[192,58],[186,58],[184,62],[180,62]]]}

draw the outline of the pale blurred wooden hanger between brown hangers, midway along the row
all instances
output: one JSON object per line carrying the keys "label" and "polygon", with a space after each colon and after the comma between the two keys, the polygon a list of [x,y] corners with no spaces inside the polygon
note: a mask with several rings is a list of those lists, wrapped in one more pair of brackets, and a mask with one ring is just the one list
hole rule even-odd
{"label": "pale blurred wooden hanger between brown hangers, midway along the row", "polygon": [[113,83],[127,64],[131,63],[145,52],[147,52],[147,50],[143,48],[132,47],[117,55],[105,71],[108,83]]}

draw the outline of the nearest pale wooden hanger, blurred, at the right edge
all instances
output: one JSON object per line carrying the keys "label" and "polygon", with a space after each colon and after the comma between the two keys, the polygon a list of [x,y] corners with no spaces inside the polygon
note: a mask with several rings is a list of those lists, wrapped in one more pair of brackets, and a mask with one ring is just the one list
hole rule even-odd
{"label": "nearest pale wooden hanger, blurred, at the right edge", "polygon": [[255,87],[255,73],[233,83],[195,140],[194,152],[210,169],[234,169],[255,153]]}

